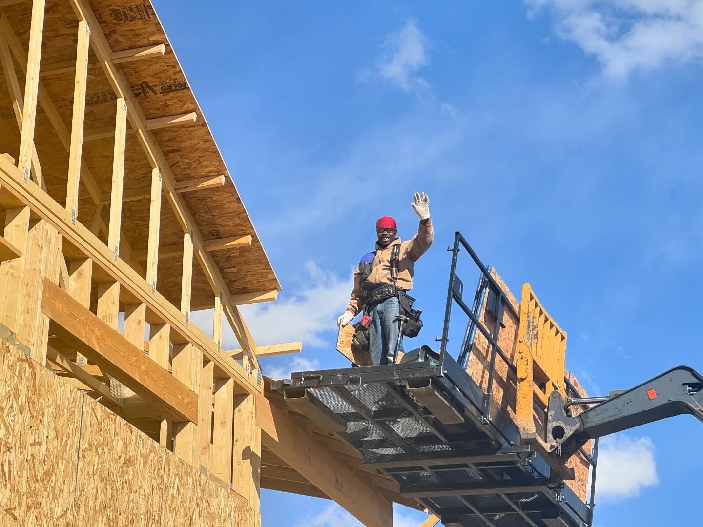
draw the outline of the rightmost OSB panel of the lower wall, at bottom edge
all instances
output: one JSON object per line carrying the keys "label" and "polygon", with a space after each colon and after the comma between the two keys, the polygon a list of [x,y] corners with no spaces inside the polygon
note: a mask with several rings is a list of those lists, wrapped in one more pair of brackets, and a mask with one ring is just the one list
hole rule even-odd
{"label": "rightmost OSB panel of the lower wall, at bottom edge", "polygon": [[[237,493],[212,483],[205,476],[191,476],[193,469],[174,455],[166,458],[162,524],[173,527],[259,527],[261,516],[247,507]],[[182,514],[191,510],[191,516]]]}

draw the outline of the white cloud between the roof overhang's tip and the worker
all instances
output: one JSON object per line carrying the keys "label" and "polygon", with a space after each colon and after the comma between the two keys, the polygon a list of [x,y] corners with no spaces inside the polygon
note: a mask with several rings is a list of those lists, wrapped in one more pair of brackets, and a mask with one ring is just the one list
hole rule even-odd
{"label": "white cloud between the roof overhang's tip and the worker", "polygon": [[314,261],[304,264],[307,276],[299,291],[276,302],[242,306],[242,314],[257,344],[278,344],[300,340],[304,346],[324,346],[323,335],[337,332],[337,317],[352,292],[352,275],[340,278],[319,268]]}

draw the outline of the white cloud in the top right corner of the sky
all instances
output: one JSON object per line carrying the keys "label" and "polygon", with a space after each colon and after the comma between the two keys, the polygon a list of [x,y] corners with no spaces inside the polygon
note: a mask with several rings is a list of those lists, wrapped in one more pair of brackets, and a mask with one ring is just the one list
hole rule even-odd
{"label": "white cloud in the top right corner of the sky", "polygon": [[607,77],[703,59],[703,0],[525,0],[550,11],[557,34],[602,64]]}

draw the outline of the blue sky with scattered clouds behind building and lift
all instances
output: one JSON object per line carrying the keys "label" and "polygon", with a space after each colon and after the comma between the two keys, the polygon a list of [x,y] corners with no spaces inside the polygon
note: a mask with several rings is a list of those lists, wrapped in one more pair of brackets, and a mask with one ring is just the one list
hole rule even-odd
{"label": "blue sky with scattered clouds behind building and lift", "polygon": [[[461,230],[512,292],[531,282],[592,394],[703,368],[703,1],[155,5],[283,284],[247,309],[252,332],[304,341],[269,375],[346,365],[335,318],[352,267],[378,216],[413,235],[418,190],[435,228],[413,289],[427,341]],[[595,525],[697,519],[702,431],[686,416],[605,441]],[[263,491],[264,526],[283,514],[357,525]]]}

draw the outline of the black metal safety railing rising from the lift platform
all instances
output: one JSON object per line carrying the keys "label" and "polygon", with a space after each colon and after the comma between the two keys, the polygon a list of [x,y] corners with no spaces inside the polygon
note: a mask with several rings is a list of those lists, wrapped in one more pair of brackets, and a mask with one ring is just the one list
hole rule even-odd
{"label": "black metal safety railing rising from the lift platform", "polygon": [[[493,293],[494,303],[491,306],[491,310],[493,311],[496,320],[494,322],[492,332],[489,332],[489,330],[484,326],[481,320],[479,320],[481,310],[477,308],[479,304],[477,303],[476,299],[473,302],[472,307],[469,307],[463,300],[463,282],[456,273],[459,253],[462,248],[467,252],[467,254],[469,254],[471,259],[474,261],[476,266],[479,268],[479,271],[481,272],[482,278],[481,280],[479,280],[479,292],[482,287],[488,287],[489,290]],[[456,302],[456,304],[469,318],[470,324],[474,325],[474,327],[483,334],[483,336],[486,338],[486,340],[491,346],[489,357],[488,382],[486,384],[486,397],[484,399],[483,409],[484,414],[486,415],[486,419],[490,420],[491,399],[493,397],[493,384],[496,371],[496,357],[500,356],[505,365],[507,365],[507,367],[510,369],[510,371],[517,374],[517,367],[515,367],[515,365],[511,362],[510,358],[508,358],[505,351],[501,349],[501,346],[498,345],[498,332],[500,332],[501,330],[501,323],[503,321],[503,311],[507,307],[508,310],[513,315],[515,315],[515,318],[518,319],[520,318],[520,313],[515,310],[514,306],[512,306],[507,295],[503,292],[501,286],[498,285],[498,282],[496,282],[495,278],[491,275],[489,268],[487,268],[481,261],[481,259],[479,259],[479,256],[476,254],[474,249],[472,249],[472,247],[468,244],[468,242],[465,240],[465,238],[463,237],[463,235],[461,235],[459,231],[456,231],[456,233],[454,233],[454,245],[452,247],[448,247],[447,252],[451,252],[452,256],[451,267],[449,270],[449,287],[447,287],[446,306],[444,310],[444,324],[442,326],[442,334],[439,339],[439,365],[441,366],[444,364],[444,357],[446,356],[446,353],[448,353],[447,347],[449,344],[449,325],[451,322],[451,310],[453,303]],[[479,292],[477,292],[477,294],[479,294]],[[458,363],[460,363],[462,366],[464,363],[464,353],[470,353],[470,343],[463,343],[463,346],[461,346],[460,349],[460,356],[457,357]],[[567,386],[567,395],[570,392],[572,393],[572,396],[581,396],[581,394],[576,391],[576,388],[572,385],[572,383],[569,382],[568,378],[565,379],[565,382]],[[588,405],[585,405],[585,407],[588,408]],[[587,460],[588,464],[591,466],[591,488],[589,489],[591,500],[590,503],[586,505],[588,506],[588,527],[593,527],[593,507],[595,507],[595,473],[596,467],[598,466],[598,439],[596,439],[593,444],[593,450],[591,450],[591,455],[588,455],[588,453],[586,452],[586,450],[583,449],[583,447],[579,448],[579,453],[583,455],[583,457]]]}

